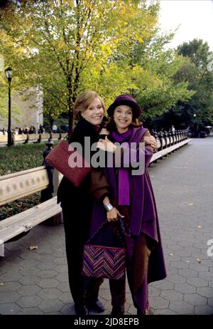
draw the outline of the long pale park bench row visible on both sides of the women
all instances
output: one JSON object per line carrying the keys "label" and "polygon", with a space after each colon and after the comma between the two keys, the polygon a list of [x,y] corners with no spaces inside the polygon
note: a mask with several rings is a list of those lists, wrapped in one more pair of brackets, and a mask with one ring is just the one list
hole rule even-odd
{"label": "long pale park bench row visible on both sides of the women", "polygon": [[[175,150],[187,145],[187,143],[191,141],[191,139],[187,137],[187,132],[184,130],[176,132],[173,136],[166,136],[158,133],[158,135],[155,135],[155,138],[158,144],[158,152],[153,154],[151,162],[156,162],[158,159],[175,152]],[[54,192],[52,199],[0,221],[0,256],[4,256],[4,243],[6,241],[10,241],[16,236],[25,234],[32,229],[33,226],[40,224],[52,216],[55,216],[56,224],[62,221],[61,207],[57,204],[56,197],[54,197],[61,178],[62,174],[54,169]],[[0,206],[35,192],[42,191],[48,187],[48,184],[48,172],[45,166],[0,176]]]}

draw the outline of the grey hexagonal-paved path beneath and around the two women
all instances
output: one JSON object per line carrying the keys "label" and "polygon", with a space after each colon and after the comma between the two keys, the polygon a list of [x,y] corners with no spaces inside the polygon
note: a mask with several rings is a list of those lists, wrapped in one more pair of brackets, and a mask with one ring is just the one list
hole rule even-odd
{"label": "grey hexagonal-paved path beneath and around the two women", "polygon": [[[207,241],[213,239],[213,138],[193,140],[149,171],[168,268],[168,278],[149,286],[154,314],[213,314],[213,256],[207,256]],[[33,245],[38,249],[30,251]],[[62,225],[38,225],[6,244],[0,313],[75,314],[67,281]],[[110,299],[105,280],[102,314],[110,313]],[[136,314],[128,288],[126,314]]]}

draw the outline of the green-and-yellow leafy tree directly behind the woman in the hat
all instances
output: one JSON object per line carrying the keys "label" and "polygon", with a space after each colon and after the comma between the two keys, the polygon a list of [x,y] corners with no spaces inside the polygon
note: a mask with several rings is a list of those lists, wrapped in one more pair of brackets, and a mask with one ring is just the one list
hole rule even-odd
{"label": "green-and-yellow leafy tree directly behind the woman in the hat", "polygon": [[[146,3],[143,3],[143,9],[146,9]],[[143,120],[161,115],[179,100],[189,100],[193,95],[193,91],[187,89],[187,81],[173,80],[185,58],[173,50],[165,50],[165,44],[174,34],[160,33],[158,11],[158,4],[149,7],[154,23],[143,33],[142,39],[123,38],[105,65],[95,62],[94,58],[94,65],[84,75],[83,85],[95,85],[102,95],[106,95],[107,104],[114,95],[131,93],[143,108]]]}

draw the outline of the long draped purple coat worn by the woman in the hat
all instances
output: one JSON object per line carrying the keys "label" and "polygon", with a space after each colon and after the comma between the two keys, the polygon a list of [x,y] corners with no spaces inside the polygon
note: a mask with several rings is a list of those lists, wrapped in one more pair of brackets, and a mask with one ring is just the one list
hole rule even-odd
{"label": "long draped purple coat worn by the woman in the hat", "polygon": [[[143,140],[143,135],[146,132],[148,132],[148,130],[143,127],[133,127],[133,133],[131,134],[128,142],[136,142],[137,146],[139,147],[139,142]],[[147,282],[150,283],[165,278],[166,271],[163,248],[160,239],[158,213],[156,209],[153,188],[151,185],[151,179],[148,174],[148,164],[150,163],[151,157],[153,155],[153,150],[149,147],[145,147],[145,149],[139,149],[138,147],[136,150],[129,148],[129,152],[135,153],[134,156],[136,157],[137,161],[139,158],[139,153],[143,152],[145,157],[145,171],[141,175],[130,175],[131,204],[128,207],[130,207],[131,214],[130,229],[131,236],[133,237],[133,246],[127,246],[127,249],[133,248],[136,250],[139,237],[143,234],[148,236],[148,239],[151,241],[152,245],[151,254],[148,258],[147,268]],[[112,194],[117,199],[118,186],[116,182],[115,170],[114,168],[106,168],[104,169],[104,173],[106,174],[109,184],[112,187]],[[103,207],[103,204],[102,202],[96,201],[94,203],[92,214],[90,236],[92,236],[92,234],[94,234],[94,232],[97,231],[105,221],[106,211]],[[126,243],[128,244],[128,240]],[[142,254],[141,257],[143,257]],[[140,295],[140,293],[143,294],[143,292],[140,292],[139,289],[138,294]],[[136,296],[136,299],[137,297],[139,301],[140,296]]]}

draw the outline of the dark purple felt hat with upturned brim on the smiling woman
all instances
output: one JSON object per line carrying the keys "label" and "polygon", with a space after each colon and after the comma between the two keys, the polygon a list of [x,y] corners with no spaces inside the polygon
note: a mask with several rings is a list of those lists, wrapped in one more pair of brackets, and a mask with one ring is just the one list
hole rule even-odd
{"label": "dark purple felt hat with upturned brim on the smiling woman", "polygon": [[111,117],[114,113],[114,109],[119,105],[128,105],[133,110],[133,117],[139,117],[142,113],[141,107],[138,105],[136,100],[131,95],[119,95],[115,100],[114,103],[112,103],[107,113],[109,117]]}

